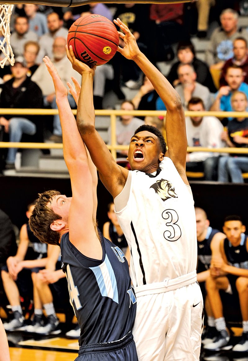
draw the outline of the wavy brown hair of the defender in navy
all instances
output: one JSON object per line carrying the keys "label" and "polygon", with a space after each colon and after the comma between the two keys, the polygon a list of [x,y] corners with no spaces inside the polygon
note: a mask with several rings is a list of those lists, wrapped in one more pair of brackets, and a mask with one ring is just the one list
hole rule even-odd
{"label": "wavy brown hair of the defender in navy", "polygon": [[60,194],[58,191],[46,191],[39,194],[33,213],[30,216],[30,229],[42,243],[59,245],[60,234],[53,231],[50,225],[56,219],[62,219],[62,217],[53,212],[48,203],[52,201],[54,196]]}

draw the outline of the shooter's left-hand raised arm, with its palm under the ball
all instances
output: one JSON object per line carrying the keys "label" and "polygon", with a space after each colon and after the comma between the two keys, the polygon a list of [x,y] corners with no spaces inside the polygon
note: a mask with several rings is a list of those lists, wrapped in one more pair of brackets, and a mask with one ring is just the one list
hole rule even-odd
{"label": "shooter's left-hand raised arm, with its palm under the ball", "polygon": [[93,105],[94,69],[90,69],[88,65],[77,60],[71,46],[69,49],[67,47],[66,50],[72,67],[82,75],[81,91],[77,104],[77,127],[99,171],[103,184],[115,197],[125,185],[128,170],[116,164],[106,144],[96,131]]}

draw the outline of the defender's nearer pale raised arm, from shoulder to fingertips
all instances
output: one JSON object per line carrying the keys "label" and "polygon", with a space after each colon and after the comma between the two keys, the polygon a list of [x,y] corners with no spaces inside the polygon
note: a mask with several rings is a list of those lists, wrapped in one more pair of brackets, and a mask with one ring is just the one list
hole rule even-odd
{"label": "defender's nearer pale raised arm, from shoulder to fingertips", "polygon": [[[79,251],[90,257],[93,248],[96,249],[95,255],[98,248],[99,254],[102,250],[93,223],[93,182],[88,155],[68,103],[67,89],[50,59],[45,57],[44,62],[54,83],[62,127],[63,155],[71,178],[72,200],[68,217],[70,241]],[[58,202],[60,201],[66,202],[58,199]]]}

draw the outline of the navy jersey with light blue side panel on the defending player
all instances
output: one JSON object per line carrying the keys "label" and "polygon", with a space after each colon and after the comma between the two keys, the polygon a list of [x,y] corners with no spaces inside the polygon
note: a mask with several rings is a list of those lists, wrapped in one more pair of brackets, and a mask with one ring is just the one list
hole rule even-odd
{"label": "navy jersey with light blue side panel on the defending player", "polygon": [[79,345],[112,342],[133,327],[136,297],[128,262],[121,249],[103,237],[102,260],[84,256],[69,240],[61,238],[61,264],[66,273],[71,303],[81,334]]}

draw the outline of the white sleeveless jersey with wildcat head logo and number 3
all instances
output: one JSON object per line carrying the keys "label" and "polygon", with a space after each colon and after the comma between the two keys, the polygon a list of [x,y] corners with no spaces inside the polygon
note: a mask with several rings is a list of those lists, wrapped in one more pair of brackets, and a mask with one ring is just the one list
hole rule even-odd
{"label": "white sleeveless jersey with wildcat head logo and number 3", "polygon": [[[126,206],[116,212],[130,251],[134,287],[172,279],[196,269],[194,200],[172,160],[156,175],[130,171]],[[124,187],[125,188],[125,187]],[[115,198],[121,200],[124,190]]]}

